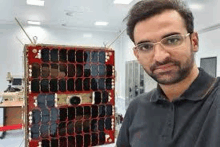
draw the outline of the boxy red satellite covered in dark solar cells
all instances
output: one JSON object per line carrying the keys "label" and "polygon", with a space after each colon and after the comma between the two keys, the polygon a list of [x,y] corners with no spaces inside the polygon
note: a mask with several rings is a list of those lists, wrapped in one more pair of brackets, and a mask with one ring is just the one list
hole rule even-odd
{"label": "boxy red satellite covered in dark solar cells", "polygon": [[25,146],[88,147],[115,134],[114,51],[25,45]]}

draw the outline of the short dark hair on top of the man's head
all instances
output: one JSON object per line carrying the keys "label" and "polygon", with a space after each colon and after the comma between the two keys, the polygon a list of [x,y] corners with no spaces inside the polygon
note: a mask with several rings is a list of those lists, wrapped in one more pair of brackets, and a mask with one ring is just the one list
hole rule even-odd
{"label": "short dark hair on top of the man's head", "polygon": [[129,11],[127,20],[127,34],[134,42],[135,25],[147,18],[161,14],[165,10],[176,10],[184,19],[188,33],[194,31],[194,17],[191,10],[180,0],[141,0]]}

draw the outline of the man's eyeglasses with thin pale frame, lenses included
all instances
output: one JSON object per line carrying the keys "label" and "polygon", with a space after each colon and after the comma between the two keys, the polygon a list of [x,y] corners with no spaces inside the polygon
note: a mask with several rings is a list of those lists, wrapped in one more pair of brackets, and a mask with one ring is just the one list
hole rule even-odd
{"label": "man's eyeglasses with thin pale frame, lenses included", "polygon": [[174,48],[177,48],[180,45],[182,45],[183,41],[189,35],[190,35],[190,33],[188,33],[186,35],[180,35],[180,34],[171,35],[171,36],[168,36],[168,37],[161,39],[159,42],[155,42],[155,43],[144,42],[144,43],[137,44],[134,47],[134,49],[138,50],[140,52],[147,53],[147,52],[152,51],[156,44],[161,44],[166,49],[174,49]]}

